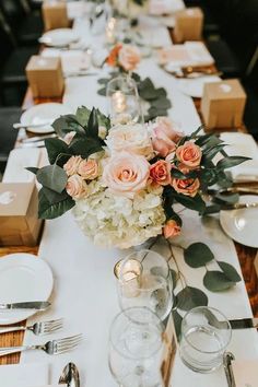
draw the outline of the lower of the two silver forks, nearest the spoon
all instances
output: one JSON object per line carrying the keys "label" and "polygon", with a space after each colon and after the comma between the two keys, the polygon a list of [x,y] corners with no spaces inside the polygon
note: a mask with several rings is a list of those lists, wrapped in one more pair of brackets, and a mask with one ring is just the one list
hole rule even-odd
{"label": "lower of the two silver forks, nearest the spoon", "polygon": [[45,344],[0,348],[0,356],[4,356],[16,352],[24,352],[28,350],[43,350],[46,353],[51,355],[60,354],[73,350],[77,345],[80,344],[82,339],[83,339],[82,333],[79,333],[63,339],[50,340],[47,341]]}

